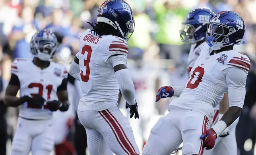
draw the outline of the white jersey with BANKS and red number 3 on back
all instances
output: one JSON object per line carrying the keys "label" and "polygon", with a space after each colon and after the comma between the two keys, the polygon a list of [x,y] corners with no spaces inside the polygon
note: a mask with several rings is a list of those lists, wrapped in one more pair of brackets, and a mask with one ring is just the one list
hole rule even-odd
{"label": "white jersey with BANKS and red number 3 on back", "polygon": [[97,36],[85,30],[79,39],[80,51],[76,57],[80,66],[82,98],[78,110],[97,112],[117,105],[119,84],[112,64],[107,60],[112,55],[125,55],[128,45],[122,38]]}

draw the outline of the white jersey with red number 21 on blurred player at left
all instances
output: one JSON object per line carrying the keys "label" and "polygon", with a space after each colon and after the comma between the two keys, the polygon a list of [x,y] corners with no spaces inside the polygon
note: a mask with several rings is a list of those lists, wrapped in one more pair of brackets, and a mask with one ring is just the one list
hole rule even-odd
{"label": "white jersey with red number 21 on blurred player at left", "polygon": [[[20,96],[41,95],[46,101],[58,100],[57,88],[68,76],[63,64],[50,62],[45,69],[38,68],[32,59],[16,59],[11,66],[12,74],[19,78]],[[30,105],[27,102],[20,106],[19,116],[27,119],[49,119],[52,112],[46,105],[42,107]]]}

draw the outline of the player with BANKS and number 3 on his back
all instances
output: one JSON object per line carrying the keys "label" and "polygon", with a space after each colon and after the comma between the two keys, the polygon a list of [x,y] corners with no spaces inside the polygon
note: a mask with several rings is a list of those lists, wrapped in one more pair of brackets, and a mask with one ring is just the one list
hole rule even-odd
{"label": "player with BANKS and number 3 on his back", "polygon": [[126,67],[128,34],[134,30],[130,6],[124,0],[107,0],[98,11],[97,23],[81,35],[80,51],[70,75],[80,80],[82,98],[78,118],[86,129],[91,155],[139,155],[132,128],[117,108],[119,87],[139,118],[134,84]]}

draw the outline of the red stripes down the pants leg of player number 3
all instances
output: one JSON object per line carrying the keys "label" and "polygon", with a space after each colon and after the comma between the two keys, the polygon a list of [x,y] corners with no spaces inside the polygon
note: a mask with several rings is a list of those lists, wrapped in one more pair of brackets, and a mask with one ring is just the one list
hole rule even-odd
{"label": "red stripes down the pants leg of player number 3", "polygon": [[[111,116],[109,115],[109,113],[107,113],[107,110],[103,110],[101,112],[99,112],[101,114],[101,116],[105,119],[105,121],[109,124],[109,126],[111,127],[111,130],[113,131],[116,140],[118,141],[119,145],[122,147],[122,149],[129,155],[129,154],[135,154],[135,152],[132,150],[132,148],[129,146],[129,144],[126,142],[124,135],[121,132],[122,128],[121,126],[118,127],[118,125],[115,123],[114,119],[111,118]],[[103,116],[103,115],[104,116]],[[106,118],[105,118],[106,117]],[[119,139],[120,140],[119,140]],[[124,148],[124,147],[125,148]],[[126,151],[127,149],[127,151]]]}

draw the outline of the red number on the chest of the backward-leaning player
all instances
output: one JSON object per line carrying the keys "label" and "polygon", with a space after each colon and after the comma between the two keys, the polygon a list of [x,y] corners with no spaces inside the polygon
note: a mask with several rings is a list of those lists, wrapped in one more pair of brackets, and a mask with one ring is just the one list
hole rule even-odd
{"label": "red number on the chest of the backward-leaning player", "polygon": [[191,75],[186,88],[195,89],[196,87],[198,87],[199,83],[202,81],[203,76],[204,68],[198,66],[193,71],[193,74]]}

